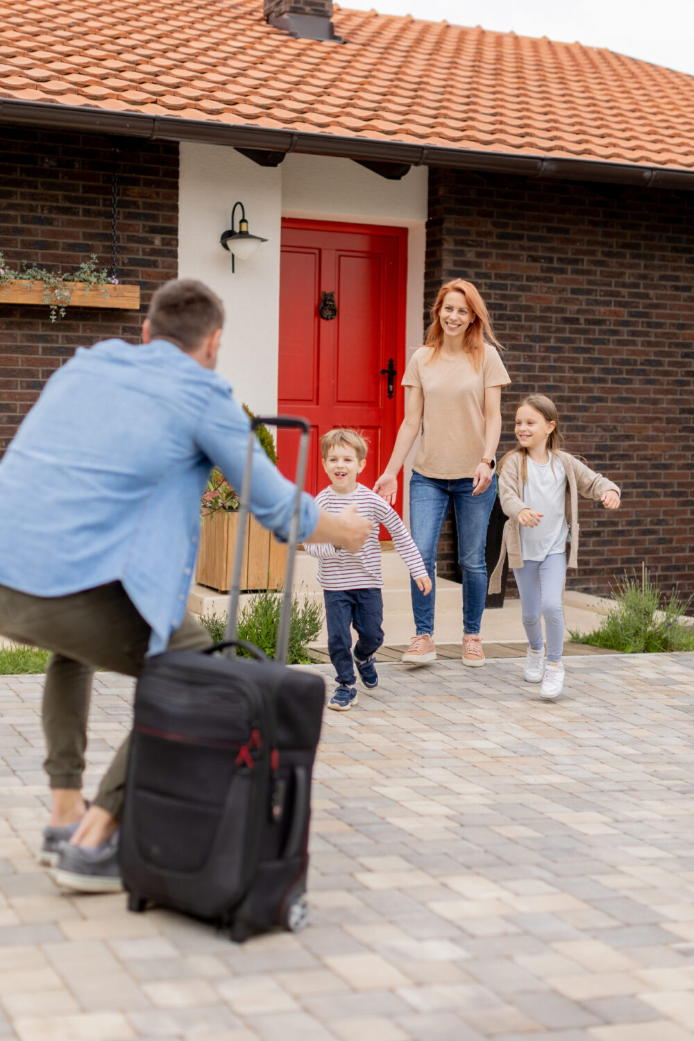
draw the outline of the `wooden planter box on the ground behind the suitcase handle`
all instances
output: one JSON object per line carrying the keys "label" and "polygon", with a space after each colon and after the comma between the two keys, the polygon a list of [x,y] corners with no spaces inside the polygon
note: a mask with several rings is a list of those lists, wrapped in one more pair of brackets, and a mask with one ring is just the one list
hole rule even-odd
{"label": "wooden planter box on the ground behind the suitcase handle", "polygon": [[[237,533],[238,513],[216,510],[214,513],[204,515],[200,531],[196,582],[210,586],[219,592],[228,592],[231,586]],[[266,528],[261,527],[255,517],[250,516],[241,563],[241,591],[280,589],[284,585],[286,564],[286,545],[278,542]]]}

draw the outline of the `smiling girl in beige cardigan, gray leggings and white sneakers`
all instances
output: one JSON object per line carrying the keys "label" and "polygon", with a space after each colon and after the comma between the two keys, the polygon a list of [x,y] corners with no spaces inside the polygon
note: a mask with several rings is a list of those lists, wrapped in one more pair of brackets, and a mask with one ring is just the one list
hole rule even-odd
{"label": "smiling girl in beige cardigan, gray leggings and white sneakers", "polygon": [[[509,519],[489,591],[500,589],[508,551],[530,642],[523,676],[529,683],[542,683],[540,694],[550,701],[562,692],[564,685],[562,591],[567,538],[571,542],[568,566],[576,566],[579,493],[586,499],[599,499],[606,509],[616,510],[620,491],[607,477],[560,451],[559,416],[554,402],[544,395],[530,395],[520,403],[516,437],[517,448],[508,452],[498,464],[498,496]],[[547,636],[546,668],[541,615]]]}

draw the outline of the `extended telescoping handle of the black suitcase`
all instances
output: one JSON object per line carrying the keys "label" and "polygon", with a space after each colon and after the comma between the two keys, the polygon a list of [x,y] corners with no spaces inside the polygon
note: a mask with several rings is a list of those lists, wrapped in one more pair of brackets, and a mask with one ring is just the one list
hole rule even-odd
{"label": "extended telescoping handle of the black suitcase", "polygon": [[[243,482],[241,485],[240,505],[238,508],[238,537],[236,540],[236,551],[234,554],[234,566],[231,578],[231,589],[229,590],[229,621],[225,640],[236,640],[236,627],[238,625],[238,598],[241,580],[241,561],[243,559],[243,542],[246,541],[246,525],[249,514],[249,501],[251,498],[251,469],[253,466],[253,449],[255,446],[255,432],[260,425],[265,427],[276,427],[280,430],[300,430],[299,457],[297,459],[297,475],[294,482],[297,492],[294,494],[291,520],[289,523],[289,538],[287,539],[287,566],[284,573],[284,590],[282,593],[282,607],[280,611],[280,625],[277,633],[277,644],[275,657],[280,662],[285,662],[287,658],[287,648],[289,646],[289,624],[291,619],[291,580],[294,570],[294,556],[297,554],[297,541],[299,539],[299,517],[301,514],[301,497],[306,479],[306,459],[308,456],[308,442],[310,428],[306,420],[301,420],[292,415],[256,415],[251,421],[251,433],[249,436],[249,447],[246,455],[246,466],[243,467]],[[230,657],[236,654],[236,644],[232,642],[227,653]]]}

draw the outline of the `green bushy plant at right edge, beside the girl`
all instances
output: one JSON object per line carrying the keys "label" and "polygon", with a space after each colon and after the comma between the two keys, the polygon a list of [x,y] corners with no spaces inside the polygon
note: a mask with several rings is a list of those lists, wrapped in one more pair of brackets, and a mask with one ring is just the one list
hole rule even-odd
{"label": "green bushy plant at right edge, beside the girl", "polygon": [[619,579],[612,595],[614,603],[598,612],[597,629],[587,635],[569,630],[571,640],[624,654],[694,651],[694,625],[683,620],[692,600],[683,600],[676,587],[665,600],[643,567],[640,579]]}

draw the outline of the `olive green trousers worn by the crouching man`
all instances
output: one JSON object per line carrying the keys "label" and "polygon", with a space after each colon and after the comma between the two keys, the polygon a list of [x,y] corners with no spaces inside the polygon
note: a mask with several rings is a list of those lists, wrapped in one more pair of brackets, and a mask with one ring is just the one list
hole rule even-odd
{"label": "olive green trousers worn by the crouching man", "polygon": [[[67,596],[32,596],[0,585],[0,634],[52,651],[44,686],[44,767],[51,788],[82,787],[86,722],[96,668],[139,676],[151,629],[120,582]],[[210,645],[190,614],[173,633],[169,651]],[[127,738],[104,776],[95,806],[120,819],[128,759]]]}

